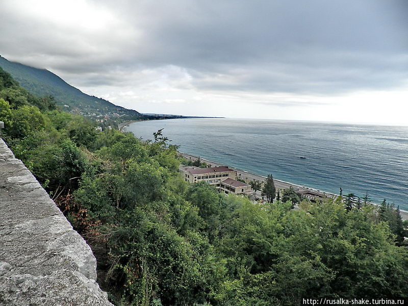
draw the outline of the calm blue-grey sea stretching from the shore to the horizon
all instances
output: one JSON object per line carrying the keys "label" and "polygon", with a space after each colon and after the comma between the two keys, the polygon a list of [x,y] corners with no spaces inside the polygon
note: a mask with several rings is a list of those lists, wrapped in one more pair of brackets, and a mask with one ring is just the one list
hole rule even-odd
{"label": "calm blue-grey sea stretching from the shore to the horizon", "polygon": [[162,128],[188,154],[322,191],[368,192],[408,210],[408,126],[171,119],[135,122],[127,131],[153,139]]}

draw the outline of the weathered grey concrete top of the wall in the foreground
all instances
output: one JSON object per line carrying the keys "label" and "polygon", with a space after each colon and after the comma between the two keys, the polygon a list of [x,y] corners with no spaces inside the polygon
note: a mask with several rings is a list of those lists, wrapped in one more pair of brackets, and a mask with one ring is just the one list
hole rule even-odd
{"label": "weathered grey concrete top of the wall in the foreground", "polygon": [[0,305],[112,305],[91,248],[2,139]]}

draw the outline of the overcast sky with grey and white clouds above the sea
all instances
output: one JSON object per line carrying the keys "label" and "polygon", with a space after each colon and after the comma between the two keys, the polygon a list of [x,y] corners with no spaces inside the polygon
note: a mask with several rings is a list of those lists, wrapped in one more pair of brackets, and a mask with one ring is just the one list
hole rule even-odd
{"label": "overcast sky with grey and white clouds above the sea", "polygon": [[5,0],[0,34],[139,112],[408,125],[406,0]]}

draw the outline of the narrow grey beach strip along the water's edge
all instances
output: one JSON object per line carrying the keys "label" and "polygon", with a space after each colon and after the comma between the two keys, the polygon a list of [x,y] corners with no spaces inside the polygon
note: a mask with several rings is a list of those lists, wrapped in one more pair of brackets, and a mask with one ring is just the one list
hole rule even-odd
{"label": "narrow grey beach strip along the water's edge", "polygon": [[[198,157],[196,157],[196,156],[186,154],[186,153],[180,152],[180,151],[179,151],[179,155],[182,156],[183,158],[185,158],[187,160],[191,160],[191,161],[195,161],[195,160],[198,159]],[[210,161],[210,160],[206,160],[206,159],[203,159],[201,157],[200,157],[200,161],[205,162],[208,165],[211,165],[212,167],[225,166],[223,164],[220,164],[220,163],[217,163],[217,162],[214,162],[214,161]],[[233,167],[229,167],[229,168],[231,168],[233,170],[236,170],[238,178],[242,179],[242,180],[244,180],[246,182],[253,181],[253,180],[263,182],[266,179],[266,176],[249,173],[249,172],[247,172],[245,170],[241,170],[241,169],[237,169],[237,168],[233,168]],[[338,194],[320,191],[320,190],[317,190],[317,189],[314,189],[314,188],[311,188],[311,187],[307,187],[307,186],[299,186],[299,185],[296,185],[296,184],[292,184],[292,183],[289,183],[289,182],[284,182],[284,181],[280,181],[280,180],[276,180],[276,179],[273,179],[273,181],[274,181],[276,189],[287,189],[287,188],[290,188],[292,186],[294,189],[311,190],[311,191],[317,192],[320,195],[326,196],[326,197],[335,198],[335,197],[338,196]],[[258,192],[257,196],[260,197],[261,193]],[[401,213],[402,220],[408,220],[408,212],[407,211],[401,210],[400,213]]]}

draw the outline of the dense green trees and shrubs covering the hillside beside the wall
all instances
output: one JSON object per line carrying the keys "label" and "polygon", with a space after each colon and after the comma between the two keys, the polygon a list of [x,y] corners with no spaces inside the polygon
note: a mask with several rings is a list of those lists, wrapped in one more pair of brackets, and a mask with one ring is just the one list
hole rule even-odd
{"label": "dense green trees and shrubs covering the hillside beside the wall", "polygon": [[177,147],[161,131],[150,143],[96,132],[1,69],[0,92],[4,139],[87,239],[115,304],[408,296],[408,250],[396,245],[406,233],[387,202],[346,210],[341,197],[303,200],[295,211],[285,191],[288,201],[265,205],[222,195],[184,182]]}

